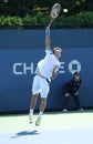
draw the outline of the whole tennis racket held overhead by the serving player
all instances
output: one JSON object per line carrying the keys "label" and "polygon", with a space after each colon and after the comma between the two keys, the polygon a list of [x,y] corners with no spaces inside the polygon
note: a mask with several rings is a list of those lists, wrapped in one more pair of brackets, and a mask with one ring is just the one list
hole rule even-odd
{"label": "whole tennis racket held overhead by the serving player", "polygon": [[54,21],[55,18],[59,17],[61,12],[61,4],[60,3],[54,3],[51,8],[51,12],[50,12],[50,22],[49,22],[49,28],[51,27],[52,22]]}

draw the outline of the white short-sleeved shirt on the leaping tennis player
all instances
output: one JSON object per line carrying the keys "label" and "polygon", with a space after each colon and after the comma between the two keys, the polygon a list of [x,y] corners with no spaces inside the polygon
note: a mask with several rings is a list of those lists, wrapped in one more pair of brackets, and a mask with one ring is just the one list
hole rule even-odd
{"label": "white short-sleeved shirt on the leaping tennis player", "polygon": [[44,59],[38,62],[38,69],[44,78],[50,79],[55,64],[60,68],[60,61],[55,58],[51,50],[46,50]]}

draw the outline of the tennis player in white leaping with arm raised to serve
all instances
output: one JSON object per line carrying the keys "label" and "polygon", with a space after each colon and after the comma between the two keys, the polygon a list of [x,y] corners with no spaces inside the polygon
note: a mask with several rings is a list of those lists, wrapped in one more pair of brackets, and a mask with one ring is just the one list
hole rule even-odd
{"label": "tennis player in white leaping with arm raised to serve", "polygon": [[32,96],[30,103],[30,123],[33,122],[33,112],[35,109],[37,100],[40,94],[40,112],[35,121],[35,125],[40,125],[41,115],[44,112],[46,105],[46,99],[50,91],[51,80],[56,76],[56,73],[60,68],[59,58],[61,56],[62,49],[56,47],[53,51],[50,48],[50,27],[45,29],[45,56],[43,60],[38,62],[37,75],[33,79],[32,83]]}

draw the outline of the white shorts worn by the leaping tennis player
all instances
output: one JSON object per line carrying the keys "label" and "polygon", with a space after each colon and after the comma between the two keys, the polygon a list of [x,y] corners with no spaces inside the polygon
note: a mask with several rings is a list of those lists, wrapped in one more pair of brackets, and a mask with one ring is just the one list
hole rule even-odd
{"label": "white shorts worn by the leaping tennis player", "polygon": [[48,97],[50,85],[45,79],[35,75],[32,83],[32,94],[40,93],[41,97]]}

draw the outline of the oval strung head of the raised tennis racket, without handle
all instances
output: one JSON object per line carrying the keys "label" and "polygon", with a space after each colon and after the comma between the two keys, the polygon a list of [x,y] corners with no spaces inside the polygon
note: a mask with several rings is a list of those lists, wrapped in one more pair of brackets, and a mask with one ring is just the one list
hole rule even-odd
{"label": "oval strung head of the raised tennis racket, without handle", "polygon": [[51,18],[55,19],[61,12],[61,4],[60,3],[54,3],[52,9],[51,9]]}

